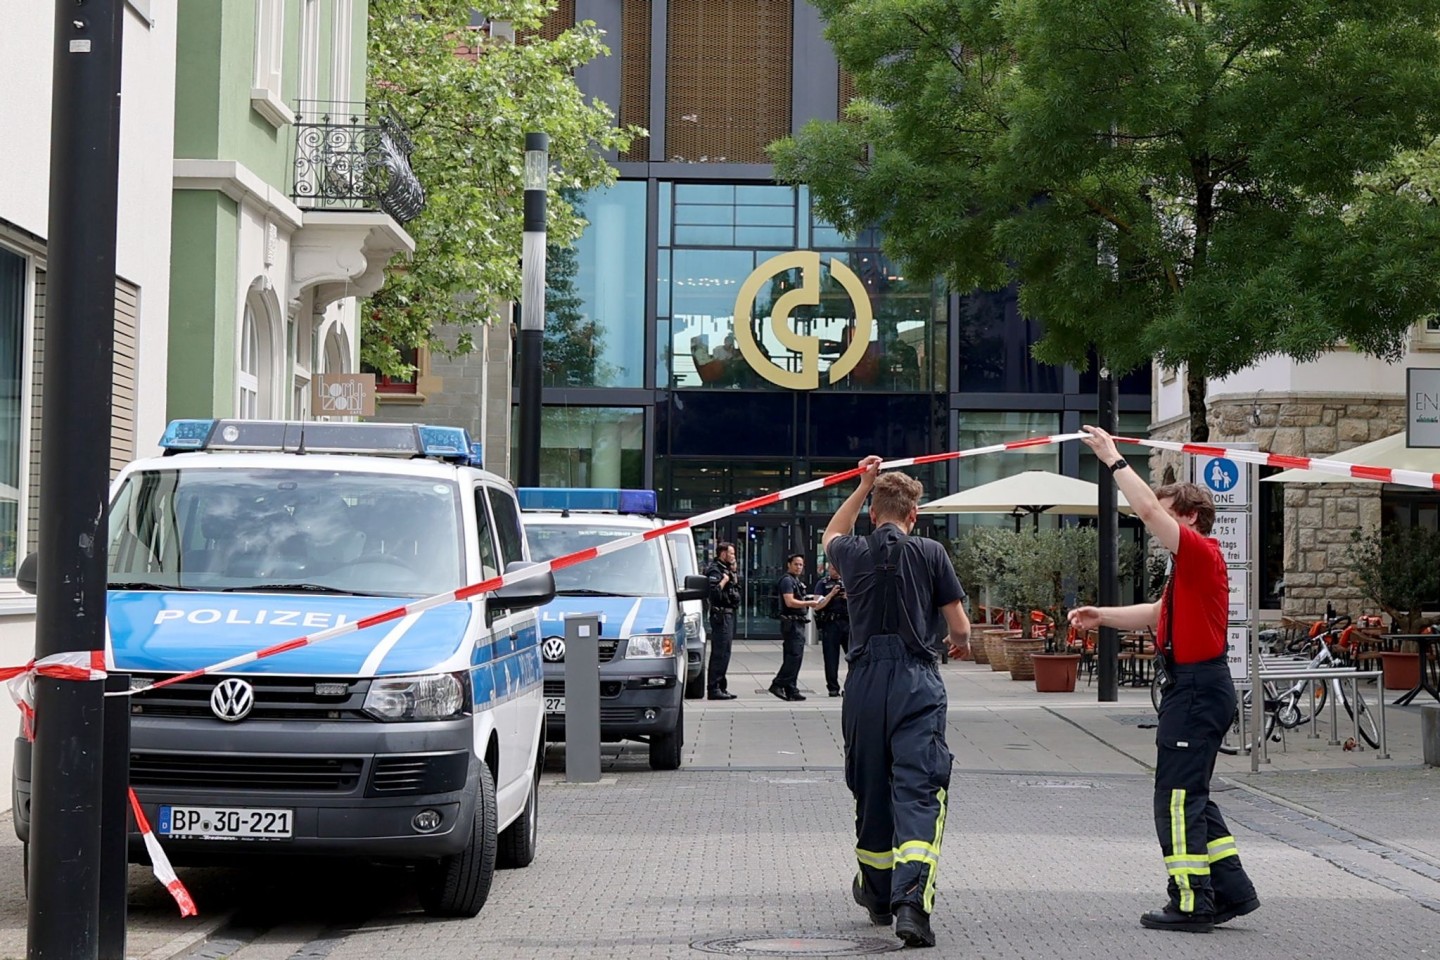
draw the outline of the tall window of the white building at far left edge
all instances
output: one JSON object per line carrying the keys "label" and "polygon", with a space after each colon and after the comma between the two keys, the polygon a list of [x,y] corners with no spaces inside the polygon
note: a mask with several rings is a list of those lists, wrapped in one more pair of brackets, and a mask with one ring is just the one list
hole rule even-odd
{"label": "tall window of the white building at far left edge", "polygon": [[20,535],[24,420],[26,258],[0,248],[0,577],[13,577]]}

